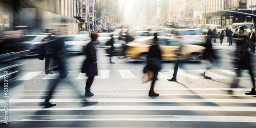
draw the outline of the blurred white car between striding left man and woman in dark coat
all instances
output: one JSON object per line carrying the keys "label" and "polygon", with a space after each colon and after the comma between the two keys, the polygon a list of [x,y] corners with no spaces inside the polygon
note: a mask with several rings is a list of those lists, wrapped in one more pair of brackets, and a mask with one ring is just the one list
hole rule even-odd
{"label": "blurred white car between striding left man and woman in dark coat", "polygon": [[69,35],[64,39],[64,46],[67,53],[82,54],[83,46],[87,45],[91,40],[84,40],[79,35]]}

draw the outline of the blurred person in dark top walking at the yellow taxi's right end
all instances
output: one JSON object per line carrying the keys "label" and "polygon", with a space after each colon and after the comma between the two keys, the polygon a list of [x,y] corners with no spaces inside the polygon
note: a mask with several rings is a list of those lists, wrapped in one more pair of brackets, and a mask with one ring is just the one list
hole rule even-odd
{"label": "blurred person in dark top walking at the yellow taxi's right end", "polygon": [[205,65],[205,72],[202,74],[205,79],[211,79],[211,77],[206,75],[206,72],[212,67],[212,63],[217,60],[215,51],[212,49],[211,37],[212,35],[206,36],[206,42],[204,44],[205,50],[199,56],[201,63]]}

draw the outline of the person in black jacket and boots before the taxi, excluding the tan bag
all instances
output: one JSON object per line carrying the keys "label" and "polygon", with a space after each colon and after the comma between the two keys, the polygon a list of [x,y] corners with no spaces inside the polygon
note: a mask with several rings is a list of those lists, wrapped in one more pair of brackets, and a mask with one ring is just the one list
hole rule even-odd
{"label": "person in black jacket and boots before the taxi, excluding the tan bag", "polygon": [[154,41],[150,46],[150,50],[147,54],[147,65],[151,71],[154,73],[154,77],[151,83],[150,92],[148,92],[148,96],[159,96],[158,93],[154,92],[154,86],[157,80],[158,72],[161,70],[161,50],[158,45],[158,37],[157,33],[154,33]]}

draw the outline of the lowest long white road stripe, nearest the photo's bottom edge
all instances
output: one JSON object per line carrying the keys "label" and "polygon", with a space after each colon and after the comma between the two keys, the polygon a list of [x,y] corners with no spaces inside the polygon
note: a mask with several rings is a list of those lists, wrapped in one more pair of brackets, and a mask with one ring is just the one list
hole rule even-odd
{"label": "lowest long white road stripe, nearest the photo's bottom edge", "polygon": [[[194,121],[194,122],[256,122],[255,116],[182,116],[182,115],[86,115],[78,119],[22,119],[22,121]],[[68,117],[68,115],[67,115]],[[100,117],[100,118],[99,118]]]}

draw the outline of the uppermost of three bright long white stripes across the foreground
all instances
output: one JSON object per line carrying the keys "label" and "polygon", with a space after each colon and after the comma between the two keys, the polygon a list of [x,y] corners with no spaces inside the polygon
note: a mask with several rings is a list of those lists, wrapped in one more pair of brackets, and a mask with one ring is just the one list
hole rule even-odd
{"label": "uppermost of three bright long white stripes across the foreground", "polygon": [[[82,102],[84,99],[51,99],[52,102]],[[90,98],[84,100],[86,102],[100,102],[102,99]],[[45,102],[45,99],[9,99],[10,103],[21,102]],[[256,103],[255,99],[111,99],[105,102],[217,102],[217,103]]]}

